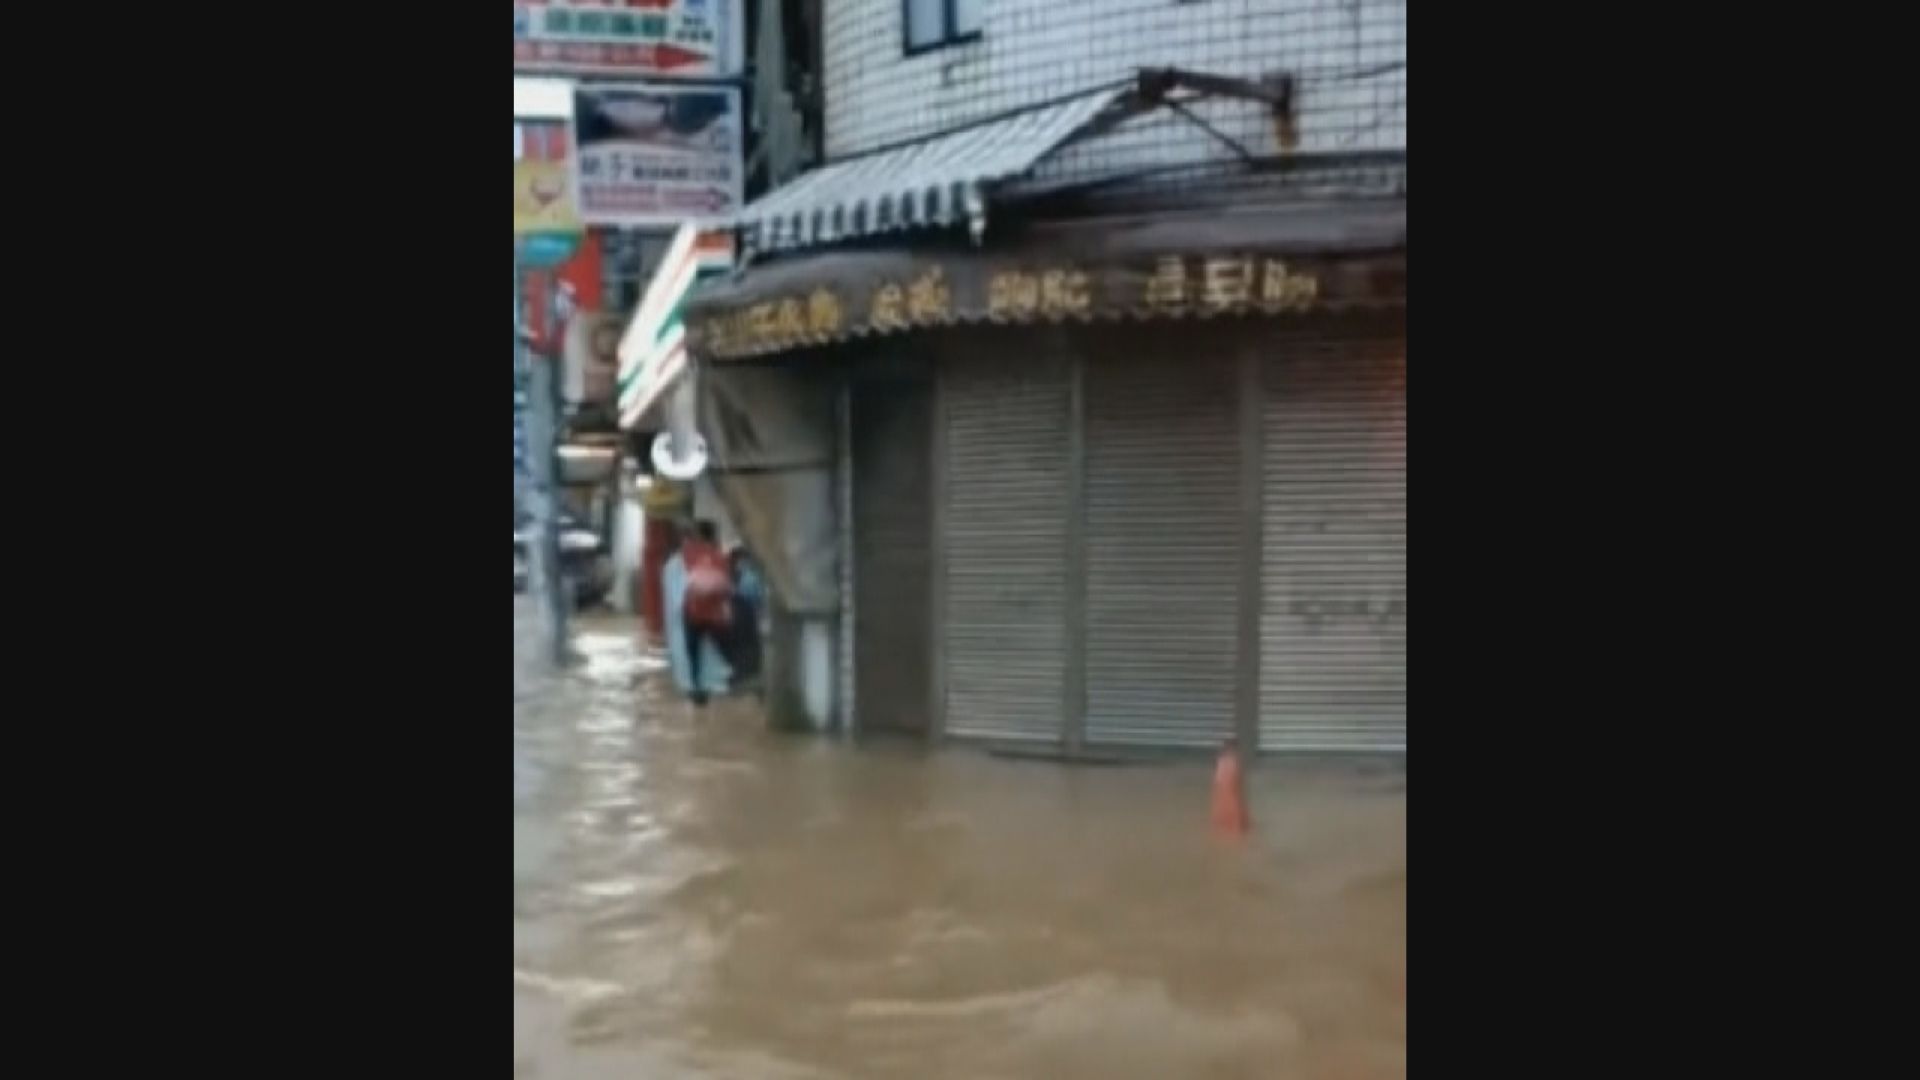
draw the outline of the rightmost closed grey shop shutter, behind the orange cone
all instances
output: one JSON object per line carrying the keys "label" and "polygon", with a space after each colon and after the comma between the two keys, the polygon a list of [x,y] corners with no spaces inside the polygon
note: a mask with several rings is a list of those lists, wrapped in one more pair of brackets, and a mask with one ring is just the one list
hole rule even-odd
{"label": "rightmost closed grey shop shutter, behind the orange cone", "polygon": [[1263,369],[1260,744],[1407,744],[1405,338],[1283,338]]}

